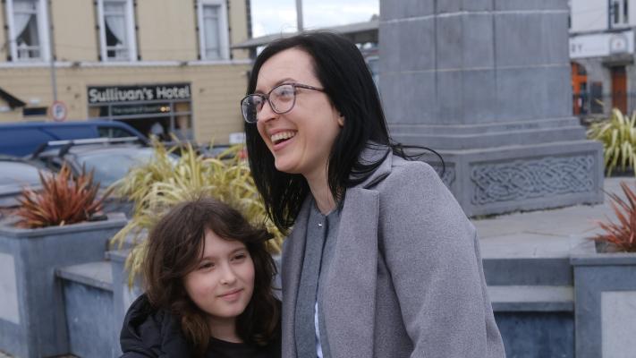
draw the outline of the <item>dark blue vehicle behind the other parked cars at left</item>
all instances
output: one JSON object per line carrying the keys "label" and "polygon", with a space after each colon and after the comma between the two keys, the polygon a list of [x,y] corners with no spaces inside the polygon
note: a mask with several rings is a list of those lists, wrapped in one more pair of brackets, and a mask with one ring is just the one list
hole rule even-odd
{"label": "dark blue vehicle behind the other parked cars at left", "polygon": [[0,124],[0,154],[26,156],[49,141],[87,138],[148,138],[128,124],[115,121],[36,122]]}

